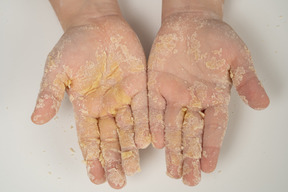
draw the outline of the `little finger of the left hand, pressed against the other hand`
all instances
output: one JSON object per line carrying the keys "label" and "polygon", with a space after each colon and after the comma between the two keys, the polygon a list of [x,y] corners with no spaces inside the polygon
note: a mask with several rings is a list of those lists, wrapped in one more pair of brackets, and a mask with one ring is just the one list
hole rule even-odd
{"label": "little finger of the left hand, pressed against the other hand", "polygon": [[135,95],[131,102],[134,118],[135,143],[138,149],[145,149],[151,142],[148,126],[147,91]]}

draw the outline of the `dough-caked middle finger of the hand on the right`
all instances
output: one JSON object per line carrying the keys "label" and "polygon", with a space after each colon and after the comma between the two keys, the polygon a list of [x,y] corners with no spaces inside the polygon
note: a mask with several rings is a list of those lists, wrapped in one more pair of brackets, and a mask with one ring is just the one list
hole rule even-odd
{"label": "dough-caked middle finger of the hand on the right", "polygon": [[183,122],[183,183],[189,186],[197,185],[201,179],[204,121],[200,113],[188,110]]}

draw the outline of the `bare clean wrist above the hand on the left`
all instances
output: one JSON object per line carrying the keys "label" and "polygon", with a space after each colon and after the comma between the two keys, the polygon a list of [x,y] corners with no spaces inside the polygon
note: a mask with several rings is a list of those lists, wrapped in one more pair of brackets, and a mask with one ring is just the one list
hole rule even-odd
{"label": "bare clean wrist above the hand on the left", "polygon": [[121,15],[117,0],[49,0],[64,31],[93,18]]}

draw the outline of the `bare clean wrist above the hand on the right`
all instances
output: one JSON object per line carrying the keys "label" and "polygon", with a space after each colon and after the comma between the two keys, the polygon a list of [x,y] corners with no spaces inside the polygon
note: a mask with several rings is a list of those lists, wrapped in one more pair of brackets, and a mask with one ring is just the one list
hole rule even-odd
{"label": "bare clean wrist above the hand on the right", "polygon": [[162,21],[181,13],[222,19],[224,0],[162,0]]}

